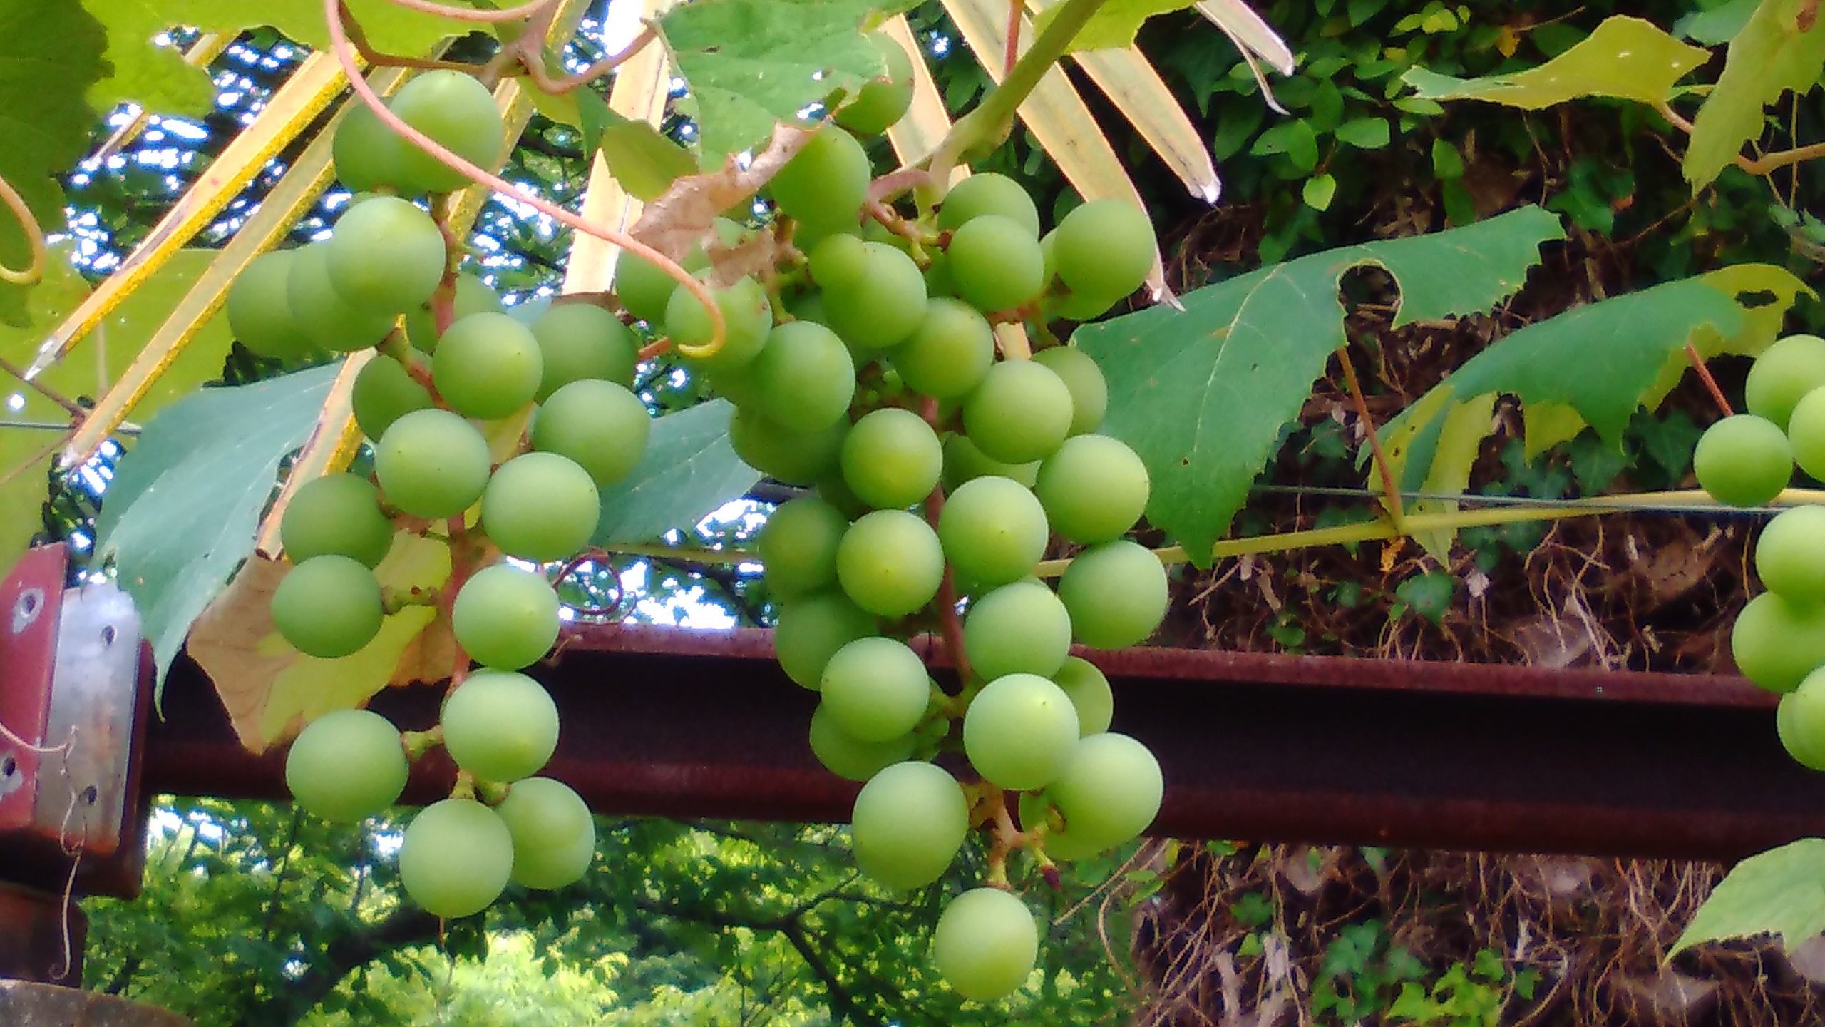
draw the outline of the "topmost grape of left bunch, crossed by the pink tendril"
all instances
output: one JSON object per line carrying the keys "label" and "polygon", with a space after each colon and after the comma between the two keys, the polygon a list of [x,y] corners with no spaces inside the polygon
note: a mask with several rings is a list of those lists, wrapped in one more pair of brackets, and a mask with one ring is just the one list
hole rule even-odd
{"label": "topmost grape of left bunch, crossed by the pink tendril", "polygon": [[[400,121],[451,154],[484,172],[500,170],[506,135],[500,110],[495,93],[474,77],[451,69],[425,71],[402,86],[389,106]],[[469,185],[462,172],[443,166],[412,143],[407,141],[402,150],[400,163],[412,192],[454,192]]]}

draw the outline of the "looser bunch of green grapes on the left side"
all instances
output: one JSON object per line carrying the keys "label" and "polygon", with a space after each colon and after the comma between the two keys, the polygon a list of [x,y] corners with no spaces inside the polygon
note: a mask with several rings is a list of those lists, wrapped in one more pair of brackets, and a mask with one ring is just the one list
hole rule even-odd
{"label": "looser bunch of green grapes on the left side", "polygon": [[[502,121],[478,80],[427,71],[391,106],[469,161],[500,166]],[[230,325],[256,353],[378,349],[350,397],[372,477],[328,473],[294,490],[279,523],[290,568],[270,616],[305,658],[341,660],[400,605],[438,601],[464,662],[434,731],[402,736],[361,709],[319,716],[292,744],[287,782],[305,810],[360,821],[398,802],[411,758],[442,744],[458,786],[407,826],[400,879],[423,908],[462,917],[509,881],[562,888],[595,853],[584,800],[537,777],[557,747],[558,711],[520,671],[560,625],[538,565],[589,548],[600,488],[646,450],[650,415],[630,389],[639,345],[617,311],[555,302],[509,316],[487,283],[458,274],[462,254],[416,201],[445,208],[438,194],[465,181],[367,108],[341,122],[334,154],[343,185],[363,196],[328,239],[257,258],[228,294]],[[451,545],[453,596],[383,588],[376,568],[403,532]]]}

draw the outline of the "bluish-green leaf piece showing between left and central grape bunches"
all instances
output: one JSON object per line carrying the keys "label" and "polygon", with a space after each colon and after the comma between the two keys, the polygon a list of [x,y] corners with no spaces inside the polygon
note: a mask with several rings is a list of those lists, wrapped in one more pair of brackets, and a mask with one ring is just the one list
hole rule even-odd
{"label": "bluish-green leaf piece showing between left and central grape bunches", "polygon": [[690,532],[715,508],[754,488],[761,471],[728,444],[728,400],[710,400],[653,422],[646,453],[624,481],[602,490],[602,519],[591,543],[657,539]]}

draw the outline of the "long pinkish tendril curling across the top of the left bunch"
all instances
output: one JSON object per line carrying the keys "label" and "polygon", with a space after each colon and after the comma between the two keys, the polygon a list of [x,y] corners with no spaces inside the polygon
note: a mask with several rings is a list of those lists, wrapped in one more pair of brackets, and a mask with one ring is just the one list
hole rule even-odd
{"label": "long pinkish tendril curling across the top of the left bunch", "polygon": [[[411,4],[420,4],[422,0],[392,0],[392,2],[394,4],[407,4],[407,5],[411,5]],[[526,7],[515,7],[515,11],[518,11],[515,16],[526,16],[527,13],[537,13],[548,2],[549,0],[540,0],[540,4],[529,4]],[[1082,4],[1086,0],[1069,0],[1069,2],[1071,4]],[[1100,4],[1102,0],[1095,0],[1095,2]],[[429,4],[429,7],[436,9],[438,5],[436,4]],[[425,9],[425,7],[414,7],[414,9]],[[482,15],[482,13],[493,15],[489,18],[471,18],[471,20],[484,20],[484,22],[511,20],[511,18],[500,16],[500,15],[506,15],[506,11],[469,11],[469,13],[471,15]],[[381,124],[385,124],[387,128],[391,128],[392,132],[396,132],[400,137],[403,137],[412,146],[418,146],[420,150],[423,150],[425,154],[429,154],[440,164],[443,164],[443,166],[447,166],[447,168],[462,174],[464,177],[467,177],[467,179],[471,179],[474,183],[485,185],[487,188],[491,188],[495,192],[507,194],[507,196],[518,199],[520,203],[526,203],[533,210],[538,210],[546,217],[551,217],[553,221],[557,221],[560,225],[568,225],[569,228],[573,228],[577,232],[584,232],[584,234],[595,236],[595,238],[602,239],[604,243],[617,245],[617,247],[620,247],[624,250],[630,250],[630,252],[641,256],[642,259],[646,259],[646,261],[661,267],[668,276],[672,276],[673,281],[677,281],[679,285],[683,285],[684,289],[688,289],[692,292],[692,296],[695,296],[697,302],[701,302],[704,305],[706,312],[710,314],[710,322],[712,322],[710,342],[704,342],[703,345],[681,345],[679,349],[686,356],[710,356],[710,355],[717,353],[719,349],[723,349],[723,340],[728,336],[728,323],[723,320],[723,311],[715,303],[715,298],[710,294],[710,289],[703,281],[699,281],[692,272],[684,270],[683,267],[677,265],[677,261],[673,261],[666,254],[655,250],[653,247],[650,247],[650,245],[635,239],[633,236],[628,236],[624,232],[617,232],[617,230],[608,228],[604,225],[595,225],[595,223],[588,221],[586,217],[571,214],[569,210],[564,210],[562,206],[558,206],[558,205],[555,205],[555,203],[551,203],[551,201],[537,196],[527,186],[509,183],[509,181],[502,179],[500,175],[493,175],[493,174],[478,168],[476,164],[471,164],[469,161],[465,161],[465,159],[458,157],[456,154],[449,152],[445,146],[440,146],[436,141],[433,141],[423,132],[418,132],[411,124],[405,124],[405,121],[400,119],[400,115],[392,113],[392,110],[387,108],[385,102],[381,102],[380,93],[376,93],[374,88],[369,86],[367,79],[361,77],[361,68],[360,68],[360,64],[356,64],[354,48],[349,44],[349,33],[343,27],[341,0],[323,0],[323,18],[325,18],[325,24],[327,24],[328,33],[330,33],[330,51],[336,55],[336,60],[341,64],[343,75],[349,79],[349,86],[354,90],[356,97],[360,97],[361,102],[367,104],[367,108],[370,111],[374,111],[374,117],[378,117],[381,121]]]}

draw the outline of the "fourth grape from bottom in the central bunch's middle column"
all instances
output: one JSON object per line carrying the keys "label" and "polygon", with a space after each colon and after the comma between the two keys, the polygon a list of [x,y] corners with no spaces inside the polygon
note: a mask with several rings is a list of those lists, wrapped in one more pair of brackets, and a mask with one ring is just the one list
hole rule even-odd
{"label": "fourth grape from bottom in the central bunch's middle column", "polygon": [[1018,581],[1046,556],[1046,510],[1026,486],[1004,477],[964,482],[944,501],[944,557],[975,585]]}

